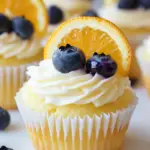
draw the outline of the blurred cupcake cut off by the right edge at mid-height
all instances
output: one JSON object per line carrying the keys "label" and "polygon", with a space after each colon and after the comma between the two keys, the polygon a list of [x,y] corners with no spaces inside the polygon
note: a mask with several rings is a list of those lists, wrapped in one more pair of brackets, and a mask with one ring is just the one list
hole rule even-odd
{"label": "blurred cupcake cut off by the right edge at mid-height", "polygon": [[136,56],[142,72],[142,79],[148,93],[150,94],[150,37],[145,39],[143,44],[137,48]]}

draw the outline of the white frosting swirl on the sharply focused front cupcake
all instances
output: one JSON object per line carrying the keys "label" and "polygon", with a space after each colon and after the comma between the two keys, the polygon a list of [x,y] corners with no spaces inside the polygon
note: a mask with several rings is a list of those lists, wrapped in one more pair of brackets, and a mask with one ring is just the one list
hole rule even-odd
{"label": "white frosting swirl on the sharply focused front cupcake", "polygon": [[29,67],[28,75],[31,77],[28,84],[33,91],[45,103],[56,106],[93,103],[100,107],[116,101],[126,88],[130,88],[127,77],[114,75],[104,79],[83,70],[63,74],[54,68],[51,60],[42,61],[38,67]]}

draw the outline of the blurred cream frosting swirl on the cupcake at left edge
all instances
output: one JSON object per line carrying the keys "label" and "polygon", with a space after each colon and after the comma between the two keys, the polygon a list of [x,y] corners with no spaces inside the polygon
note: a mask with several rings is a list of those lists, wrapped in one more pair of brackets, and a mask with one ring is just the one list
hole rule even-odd
{"label": "blurred cream frosting swirl on the cupcake at left edge", "polygon": [[30,40],[22,40],[16,33],[3,33],[0,35],[0,56],[4,58],[29,58],[41,50],[40,40],[33,36]]}

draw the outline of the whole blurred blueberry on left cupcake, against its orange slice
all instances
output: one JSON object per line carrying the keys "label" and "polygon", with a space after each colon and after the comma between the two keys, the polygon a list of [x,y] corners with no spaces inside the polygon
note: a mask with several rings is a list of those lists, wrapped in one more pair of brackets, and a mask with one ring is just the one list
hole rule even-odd
{"label": "whole blurred blueberry on left cupcake, against its orange slice", "polygon": [[33,24],[24,17],[13,18],[12,27],[13,31],[24,40],[29,39],[34,32]]}

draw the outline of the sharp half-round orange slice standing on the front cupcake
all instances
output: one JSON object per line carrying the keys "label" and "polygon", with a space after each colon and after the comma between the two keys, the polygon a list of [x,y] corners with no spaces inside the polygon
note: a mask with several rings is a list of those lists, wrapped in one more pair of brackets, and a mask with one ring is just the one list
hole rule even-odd
{"label": "sharp half-round orange slice standing on the front cupcake", "polygon": [[94,52],[110,55],[118,64],[118,73],[128,75],[131,48],[124,34],[111,22],[98,17],[79,17],[62,23],[51,35],[44,58],[51,58],[57,48],[66,44],[80,48],[87,59]]}

